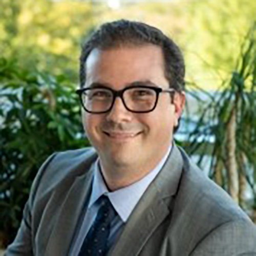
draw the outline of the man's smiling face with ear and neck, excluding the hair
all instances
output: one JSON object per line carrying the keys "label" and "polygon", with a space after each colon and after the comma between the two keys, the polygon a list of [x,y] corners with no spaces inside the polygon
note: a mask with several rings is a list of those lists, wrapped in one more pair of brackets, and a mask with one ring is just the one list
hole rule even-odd
{"label": "man's smiling face with ear and neck, excluding the hair", "polygon": [[[86,110],[98,113],[83,111],[84,129],[99,154],[104,180],[114,191],[141,180],[164,157],[184,93],[175,95],[169,89],[162,50],[152,44],[93,49],[85,69],[81,97]],[[121,97],[114,97],[117,91]]]}

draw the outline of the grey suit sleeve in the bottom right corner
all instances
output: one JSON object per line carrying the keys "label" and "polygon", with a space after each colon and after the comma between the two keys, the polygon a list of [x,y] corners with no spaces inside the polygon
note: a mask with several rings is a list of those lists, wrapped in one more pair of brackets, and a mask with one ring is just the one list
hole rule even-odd
{"label": "grey suit sleeve in the bottom right corner", "polygon": [[189,256],[256,256],[256,226],[250,221],[225,223],[199,242]]}

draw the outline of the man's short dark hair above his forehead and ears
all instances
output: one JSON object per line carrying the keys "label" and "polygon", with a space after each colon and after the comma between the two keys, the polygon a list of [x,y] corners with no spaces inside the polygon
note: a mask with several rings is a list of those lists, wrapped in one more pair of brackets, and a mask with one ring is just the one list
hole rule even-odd
{"label": "man's short dark hair above his forehead and ears", "polygon": [[80,87],[82,88],[86,82],[86,60],[93,49],[107,50],[122,46],[141,46],[145,44],[161,47],[165,64],[164,73],[169,81],[169,87],[178,92],[184,91],[184,59],[175,42],[155,27],[125,19],[101,25],[82,45]]}

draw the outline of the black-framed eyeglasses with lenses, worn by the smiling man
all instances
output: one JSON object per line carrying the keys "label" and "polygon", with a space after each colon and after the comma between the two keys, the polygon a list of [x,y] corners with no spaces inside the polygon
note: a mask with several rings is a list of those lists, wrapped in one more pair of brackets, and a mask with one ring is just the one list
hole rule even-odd
{"label": "black-framed eyeglasses with lenses, worn by the smiling man", "polygon": [[148,113],[156,108],[160,93],[175,93],[174,89],[151,86],[130,86],[116,91],[108,87],[78,89],[81,104],[89,113],[103,114],[111,111],[115,99],[120,97],[125,108],[134,113]]}

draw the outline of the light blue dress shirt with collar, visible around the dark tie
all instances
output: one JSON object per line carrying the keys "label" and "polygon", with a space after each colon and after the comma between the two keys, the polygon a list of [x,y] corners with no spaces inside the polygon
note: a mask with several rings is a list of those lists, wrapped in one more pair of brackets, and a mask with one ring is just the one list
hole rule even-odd
{"label": "light blue dress shirt with collar, visible around the dark tie", "polygon": [[118,238],[119,234],[121,233],[124,227],[124,224],[127,222],[129,216],[132,214],[133,209],[139,202],[140,198],[144,194],[147,187],[155,179],[155,177],[163,167],[171,149],[172,149],[172,145],[170,145],[167,153],[159,162],[159,164],[156,166],[156,168],[152,170],[152,172],[148,173],[141,180],[131,184],[130,186],[120,188],[113,192],[110,192],[108,190],[108,187],[106,187],[106,184],[101,175],[99,161],[97,161],[97,163],[95,164],[92,194],[88,204],[88,209],[83,218],[83,222],[82,222],[82,225],[80,226],[80,230],[78,231],[76,240],[74,241],[71,247],[69,255],[72,255],[72,256],[78,255],[80,248],[82,246],[83,240],[86,237],[90,227],[92,226],[96,218],[97,212],[101,206],[97,202],[97,199],[102,195],[109,197],[113,207],[115,208],[118,214],[111,223],[111,231],[110,231],[110,237],[108,240],[108,248],[111,248],[114,245],[116,239]]}

